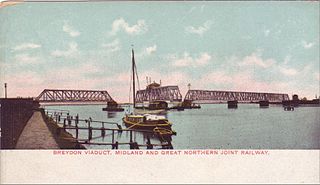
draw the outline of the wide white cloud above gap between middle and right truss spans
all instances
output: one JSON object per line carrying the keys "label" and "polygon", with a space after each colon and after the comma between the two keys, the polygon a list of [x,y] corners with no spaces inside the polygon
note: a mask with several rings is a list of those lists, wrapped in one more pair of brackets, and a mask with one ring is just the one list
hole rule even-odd
{"label": "wide white cloud above gap between middle and right truss spans", "polygon": [[199,67],[208,64],[212,56],[208,53],[201,53],[199,57],[192,58],[189,53],[185,52],[182,58],[177,58],[176,56],[172,58],[172,65],[175,67]]}

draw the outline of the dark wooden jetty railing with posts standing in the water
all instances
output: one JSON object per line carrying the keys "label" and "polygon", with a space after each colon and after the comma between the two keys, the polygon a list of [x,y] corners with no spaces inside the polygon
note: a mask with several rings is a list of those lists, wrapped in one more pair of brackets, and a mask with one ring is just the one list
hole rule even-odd
{"label": "dark wooden jetty railing with posts standing in the water", "polygon": [[[70,112],[67,110],[46,109],[45,113],[48,117],[50,117],[60,126],[56,134],[59,135],[61,129],[65,131],[74,131],[74,137],[79,144],[111,146],[112,149],[119,149],[119,145],[129,145],[130,149],[140,149],[141,147],[145,147],[146,149],[153,149],[155,147],[160,147],[159,149],[173,149],[171,143],[171,135],[162,136],[160,134],[155,133],[152,130],[122,128],[122,125],[117,122],[97,121],[93,120],[91,117],[89,117],[88,119],[80,119],[78,114],[76,116],[71,116]],[[113,128],[111,126],[113,126]],[[83,139],[83,137],[80,138],[80,131],[86,131],[87,134],[85,135],[87,137],[85,139]],[[96,131],[100,131],[100,135],[95,135],[94,137],[94,133],[96,133]],[[109,132],[109,134],[107,134],[107,132]],[[119,142],[116,139],[116,134],[120,134],[121,136],[123,132],[129,134],[129,141]],[[136,136],[137,132],[142,133],[142,135],[146,136],[146,143],[139,144],[136,141],[134,136]],[[107,136],[111,136],[111,141],[92,142],[95,139],[105,138]],[[154,136],[156,136],[159,139],[160,143],[151,143],[150,138]]]}

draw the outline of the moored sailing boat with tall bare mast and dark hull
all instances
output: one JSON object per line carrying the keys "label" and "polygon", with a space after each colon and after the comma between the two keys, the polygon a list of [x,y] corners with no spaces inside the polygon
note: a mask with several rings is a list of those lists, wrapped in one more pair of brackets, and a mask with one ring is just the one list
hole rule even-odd
{"label": "moored sailing boat with tall bare mast and dark hull", "polygon": [[131,114],[125,115],[122,118],[123,122],[128,128],[143,129],[143,130],[155,130],[155,132],[166,131],[165,133],[173,133],[171,130],[171,123],[164,116],[152,115],[152,114],[142,114],[135,111],[136,108],[136,95],[135,95],[135,60],[134,51],[132,49],[132,86],[133,86],[133,112]]}

